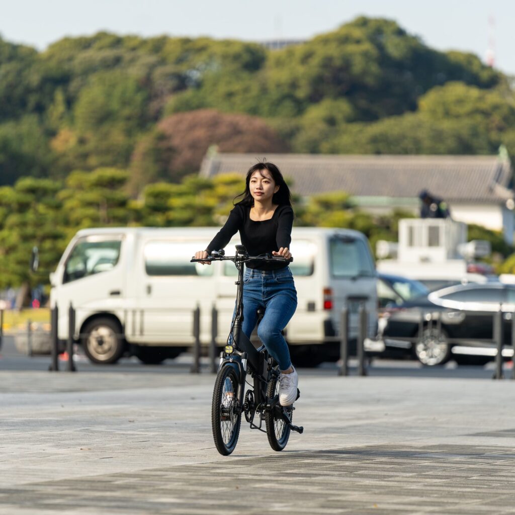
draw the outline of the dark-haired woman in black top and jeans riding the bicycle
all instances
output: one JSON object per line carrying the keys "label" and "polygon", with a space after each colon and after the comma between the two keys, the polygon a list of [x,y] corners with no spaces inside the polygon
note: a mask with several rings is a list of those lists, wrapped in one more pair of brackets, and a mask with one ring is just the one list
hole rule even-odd
{"label": "dark-haired woman in black top and jeans riding the bicycle", "polygon": [[[213,250],[223,249],[239,231],[249,255],[271,253],[290,259],[291,226],[294,213],[291,194],[279,168],[268,162],[252,166],[246,178],[243,199],[234,205],[224,227],[207,249],[195,253],[205,259]],[[211,264],[205,261],[202,264]],[[299,378],[291,364],[288,345],[281,331],[297,308],[297,291],[287,263],[247,263],[243,286],[243,332],[250,338],[258,320],[258,308],[265,314],[258,336],[268,353],[277,361],[279,402],[289,406],[297,399]]]}

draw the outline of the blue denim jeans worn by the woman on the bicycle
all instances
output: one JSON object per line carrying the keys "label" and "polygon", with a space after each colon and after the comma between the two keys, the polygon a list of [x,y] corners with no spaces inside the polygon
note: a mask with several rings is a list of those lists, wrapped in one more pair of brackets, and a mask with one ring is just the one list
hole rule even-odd
{"label": "blue denim jeans worn by the woman on the bicycle", "polygon": [[297,309],[297,290],[289,268],[254,270],[247,268],[243,279],[243,332],[250,338],[258,321],[258,308],[265,316],[258,336],[281,370],[291,366],[288,344],[281,331]]}

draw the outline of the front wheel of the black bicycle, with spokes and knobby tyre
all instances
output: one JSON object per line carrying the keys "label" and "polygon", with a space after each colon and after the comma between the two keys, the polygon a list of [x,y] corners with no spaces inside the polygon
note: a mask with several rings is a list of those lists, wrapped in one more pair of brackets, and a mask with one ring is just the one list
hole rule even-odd
{"label": "front wheel of the black bicycle, with spokes and knobby tyre", "polygon": [[211,426],[217,451],[228,456],[238,442],[242,422],[238,409],[238,376],[233,367],[223,367],[216,376],[211,404]]}

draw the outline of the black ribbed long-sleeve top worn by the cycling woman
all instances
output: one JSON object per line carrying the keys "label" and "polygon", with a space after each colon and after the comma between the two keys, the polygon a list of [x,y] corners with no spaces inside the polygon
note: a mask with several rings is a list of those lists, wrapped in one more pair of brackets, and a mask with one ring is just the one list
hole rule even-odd
{"label": "black ribbed long-sleeve top worn by the cycling woman", "polygon": [[[255,221],[250,219],[249,205],[236,204],[225,226],[218,231],[205,250],[211,253],[212,250],[223,249],[237,231],[242,239],[242,245],[252,256],[278,251],[281,247],[289,248],[293,218],[291,206],[278,205],[270,219]],[[277,270],[285,268],[288,264],[249,262],[246,266],[259,270]]]}

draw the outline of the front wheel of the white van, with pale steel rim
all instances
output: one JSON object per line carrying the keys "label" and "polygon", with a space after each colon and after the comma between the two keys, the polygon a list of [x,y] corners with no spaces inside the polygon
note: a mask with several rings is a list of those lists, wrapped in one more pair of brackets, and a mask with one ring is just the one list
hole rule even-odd
{"label": "front wheel of the white van, with pale steel rim", "polygon": [[96,318],[82,330],[81,343],[92,363],[116,363],[125,350],[122,329],[111,318]]}

